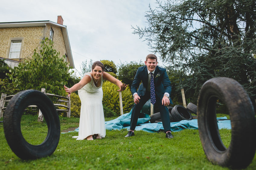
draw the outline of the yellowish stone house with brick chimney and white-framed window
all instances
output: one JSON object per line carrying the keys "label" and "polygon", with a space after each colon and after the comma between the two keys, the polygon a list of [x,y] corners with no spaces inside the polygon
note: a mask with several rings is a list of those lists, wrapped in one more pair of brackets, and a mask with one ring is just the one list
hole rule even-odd
{"label": "yellowish stone house with brick chimney and white-framed window", "polygon": [[75,68],[67,27],[61,16],[57,23],[49,20],[0,23],[0,59],[5,59],[12,68],[18,66],[25,58],[32,58],[34,49],[40,48],[45,37],[54,42],[60,56],[65,55],[66,62]]}

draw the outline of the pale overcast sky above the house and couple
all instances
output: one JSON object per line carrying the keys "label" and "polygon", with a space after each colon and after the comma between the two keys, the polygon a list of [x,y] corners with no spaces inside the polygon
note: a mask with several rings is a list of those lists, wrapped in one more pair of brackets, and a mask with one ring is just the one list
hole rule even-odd
{"label": "pale overcast sky above the house and couple", "polygon": [[[155,0],[8,0],[1,1],[0,22],[50,20],[67,26],[75,68],[82,61],[145,61],[147,42],[132,34],[132,26],[147,26],[146,11]],[[132,25],[132,26],[131,26]]]}

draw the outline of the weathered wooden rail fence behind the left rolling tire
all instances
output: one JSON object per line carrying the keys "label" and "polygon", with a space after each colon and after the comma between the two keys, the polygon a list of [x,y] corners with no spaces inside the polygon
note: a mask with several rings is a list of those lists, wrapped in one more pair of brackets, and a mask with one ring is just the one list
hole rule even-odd
{"label": "weathered wooden rail fence behind the left rolling tire", "polygon": [[[68,97],[68,95],[65,97],[65,96],[59,96],[59,95],[56,95],[56,94],[46,93],[45,88],[42,88],[41,92],[46,94],[47,96],[57,97],[57,100],[53,101],[53,105],[54,106],[65,107],[66,109],[56,109],[56,110],[57,111],[66,111],[67,112],[67,117],[70,118],[70,97]],[[6,109],[5,102],[9,102],[13,96],[14,95],[6,96],[6,94],[2,93],[1,100],[0,100],[0,118],[3,117],[3,112]],[[67,103],[67,105],[58,104],[58,103],[55,103],[55,102],[65,102],[65,103]],[[36,105],[30,105],[28,107],[37,107],[37,106]],[[40,122],[43,121],[43,115],[42,115],[42,112],[40,110],[39,110],[39,113],[38,113],[38,122],[39,121]]]}

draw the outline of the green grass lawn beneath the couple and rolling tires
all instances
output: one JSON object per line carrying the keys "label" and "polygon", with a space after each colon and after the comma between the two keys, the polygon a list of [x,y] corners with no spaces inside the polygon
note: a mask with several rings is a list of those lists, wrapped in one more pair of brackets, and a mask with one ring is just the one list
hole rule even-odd
{"label": "green grass lawn beneath the couple and rolling tires", "polygon": [[[217,115],[222,116],[226,115]],[[79,118],[60,117],[61,131],[78,125]],[[37,122],[37,116],[23,115],[21,131],[30,144],[37,145],[45,139],[47,126]],[[94,141],[76,141],[72,136],[78,132],[60,134],[51,156],[24,161],[11,151],[0,123],[0,169],[229,169],[208,161],[198,130],[173,132],[173,139],[165,138],[163,132],[135,131],[136,136],[124,138],[126,134],[126,130],[107,130],[105,138]],[[231,131],[222,129],[220,134],[228,147]],[[247,169],[256,169],[255,157]]]}

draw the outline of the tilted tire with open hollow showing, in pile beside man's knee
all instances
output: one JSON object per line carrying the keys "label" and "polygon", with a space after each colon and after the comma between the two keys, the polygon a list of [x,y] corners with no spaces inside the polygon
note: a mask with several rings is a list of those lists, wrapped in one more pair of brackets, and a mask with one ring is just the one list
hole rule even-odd
{"label": "tilted tire with open hollow showing, in pile beside man's knee", "polygon": [[175,122],[179,122],[181,120],[191,120],[192,116],[187,111],[187,109],[181,105],[175,105],[171,110],[171,116]]}

